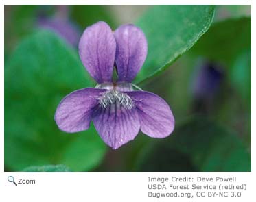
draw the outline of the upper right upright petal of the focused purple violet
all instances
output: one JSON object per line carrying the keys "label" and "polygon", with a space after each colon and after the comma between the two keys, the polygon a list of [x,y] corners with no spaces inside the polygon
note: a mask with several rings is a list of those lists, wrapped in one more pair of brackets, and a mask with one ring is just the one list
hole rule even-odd
{"label": "upper right upright petal of the focused purple violet", "polygon": [[122,25],[115,31],[115,62],[119,81],[132,81],[146,59],[148,45],[143,31],[135,25]]}

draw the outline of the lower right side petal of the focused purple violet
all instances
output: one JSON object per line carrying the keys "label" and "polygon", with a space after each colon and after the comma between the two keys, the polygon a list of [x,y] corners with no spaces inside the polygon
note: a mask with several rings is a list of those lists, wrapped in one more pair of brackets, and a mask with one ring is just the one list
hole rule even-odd
{"label": "lower right side petal of the focused purple violet", "polygon": [[134,101],[141,131],[152,138],[165,138],[174,130],[174,116],[169,105],[158,95],[145,91],[126,92]]}

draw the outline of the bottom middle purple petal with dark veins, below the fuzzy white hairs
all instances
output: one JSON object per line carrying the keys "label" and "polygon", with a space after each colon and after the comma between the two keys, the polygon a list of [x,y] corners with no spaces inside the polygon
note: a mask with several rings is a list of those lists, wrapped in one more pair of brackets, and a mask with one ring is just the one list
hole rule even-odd
{"label": "bottom middle purple petal with dark veins, below the fuzzy white hairs", "polygon": [[133,140],[139,133],[136,109],[126,110],[115,103],[108,108],[98,108],[93,114],[93,123],[102,140],[113,149]]}

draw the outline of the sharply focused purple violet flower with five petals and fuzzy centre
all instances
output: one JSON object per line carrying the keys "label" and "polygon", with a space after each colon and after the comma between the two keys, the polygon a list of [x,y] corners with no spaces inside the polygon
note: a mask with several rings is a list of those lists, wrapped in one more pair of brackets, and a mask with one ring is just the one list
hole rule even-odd
{"label": "sharply focused purple violet flower with five petals and fuzzy centre", "polygon": [[[62,99],[55,114],[58,127],[69,133],[83,131],[89,129],[92,120],[102,140],[113,149],[133,140],[139,130],[152,138],[169,136],[174,130],[169,105],[131,84],[147,51],[146,37],[135,25],[121,25],[115,32],[104,22],[87,27],[79,42],[79,54],[98,84]],[[112,78],[114,64],[117,82]]]}

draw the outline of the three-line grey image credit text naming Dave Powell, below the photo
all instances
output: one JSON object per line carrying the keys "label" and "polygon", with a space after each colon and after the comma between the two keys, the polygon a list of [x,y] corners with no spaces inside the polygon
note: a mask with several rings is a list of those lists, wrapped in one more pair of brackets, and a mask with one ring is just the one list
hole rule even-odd
{"label": "three-line grey image credit text naming Dave Powell, below the photo", "polygon": [[242,197],[247,186],[237,177],[148,177],[150,198]]}

